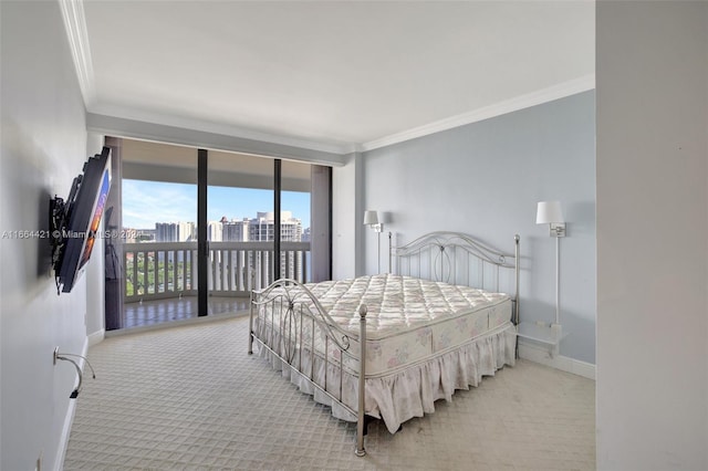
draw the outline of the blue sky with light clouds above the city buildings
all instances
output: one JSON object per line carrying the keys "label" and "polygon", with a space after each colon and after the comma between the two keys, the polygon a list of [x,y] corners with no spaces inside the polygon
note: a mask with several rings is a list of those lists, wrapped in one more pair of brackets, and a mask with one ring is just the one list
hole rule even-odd
{"label": "blue sky with light clouds above the city buildings", "polygon": [[[162,181],[123,180],[123,227],[155,229],[155,222],[197,222],[197,186]],[[310,193],[283,191],[281,209],[292,211],[310,227]],[[273,191],[250,188],[214,187],[207,189],[207,219],[256,218],[257,212],[273,210]]]}

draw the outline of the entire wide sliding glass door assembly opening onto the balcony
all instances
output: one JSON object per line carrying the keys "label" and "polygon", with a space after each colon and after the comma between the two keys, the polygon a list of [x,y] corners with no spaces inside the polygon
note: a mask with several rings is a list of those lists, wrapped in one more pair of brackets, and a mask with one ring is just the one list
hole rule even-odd
{"label": "entire wide sliding glass door assembly opening onto the balcony", "polygon": [[312,214],[329,191],[313,169],[326,167],[119,140],[116,223],[132,237],[116,258],[125,322],[115,328],[243,311],[251,290],[278,278],[313,280],[313,222],[323,244],[330,219],[329,207]]}

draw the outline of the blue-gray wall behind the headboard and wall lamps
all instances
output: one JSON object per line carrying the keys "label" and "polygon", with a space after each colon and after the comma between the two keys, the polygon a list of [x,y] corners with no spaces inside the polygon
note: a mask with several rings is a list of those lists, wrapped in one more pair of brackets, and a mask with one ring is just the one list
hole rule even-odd
{"label": "blue-gray wall behind the headboard and wall lamps", "polygon": [[[561,355],[595,363],[595,112],[585,92],[364,154],[364,206],[385,213],[396,243],[433,230],[475,234],[513,251],[521,236],[521,316],[555,318],[555,240],[535,224],[537,202],[558,199]],[[376,234],[363,234],[376,271]],[[387,268],[382,237],[382,270]]]}

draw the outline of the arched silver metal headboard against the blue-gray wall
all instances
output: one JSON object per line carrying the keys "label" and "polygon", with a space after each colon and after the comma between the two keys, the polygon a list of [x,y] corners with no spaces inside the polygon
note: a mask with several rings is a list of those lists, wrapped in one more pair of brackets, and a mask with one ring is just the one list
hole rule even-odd
{"label": "arched silver metal headboard against the blue-gray wall", "polygon": [[[389,233],[391,240],[391,233]],[[504,292],[514,301],[514,324],[519,321],[519,241],[514,251],[493,249],[460,232],[430,232],[403,247],[389,241],[388,266],[393,273]]]}

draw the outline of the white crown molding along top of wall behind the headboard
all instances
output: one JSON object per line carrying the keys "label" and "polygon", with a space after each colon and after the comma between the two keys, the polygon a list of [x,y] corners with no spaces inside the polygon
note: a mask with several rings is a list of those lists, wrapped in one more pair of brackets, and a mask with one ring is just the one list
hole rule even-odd
{"label": "white crown molding along top of wall behind the headboard", "polygon": [[403,143],[406,140],[415,139],[417,137],[428,136],[430,134],[439,133],[442,130],[452,129],[455,127],[465,126],[467,124],[477,123],[483,119],[489,119],[496,116],[501,116],[507,113],[517,112],[531,106],[540,105],[542,103],[552,102],[554,100],[564,98],[566,96],[575,95],[577,93],[587,92],[595,88],[595,74],[585,75],[583,77],[564,82],[558,85],[550,86],[537,92],[520,95],[514,98],[506,100],[503,102],[496,103],[490,106],[485,106],[461,115],[451,116],[449,118],[440,119],[435,123],[430,123],[424,126],[415,127],[413,129],[404,130],[403,133],[392,134],[391,136],[382,137],[379,139],[369,140],[358,146],[357,150],[368,151],[378,149],[381,147],[391,146],[393,144]]}

